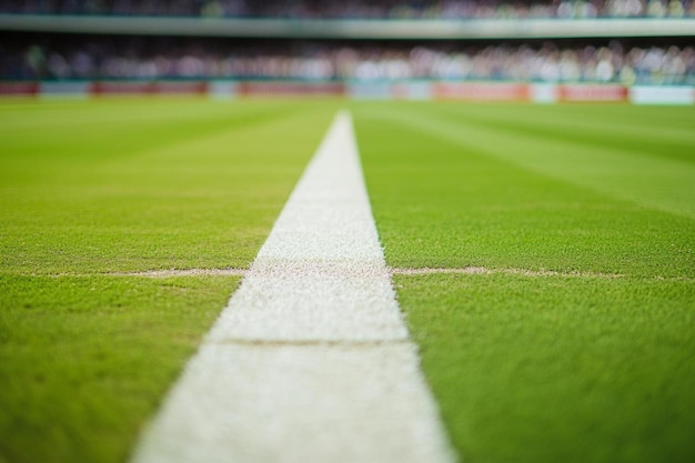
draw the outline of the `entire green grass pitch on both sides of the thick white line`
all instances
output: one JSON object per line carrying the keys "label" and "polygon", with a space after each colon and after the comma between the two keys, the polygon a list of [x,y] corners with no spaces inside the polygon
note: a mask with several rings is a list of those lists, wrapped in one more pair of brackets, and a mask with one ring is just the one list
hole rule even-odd
{"label": "entire green grass pitch on both sides of the thick white line", "polygon": [[340,108],[466,462],[695,459],[695,111],[0,104],[0,461],[118,462]]}

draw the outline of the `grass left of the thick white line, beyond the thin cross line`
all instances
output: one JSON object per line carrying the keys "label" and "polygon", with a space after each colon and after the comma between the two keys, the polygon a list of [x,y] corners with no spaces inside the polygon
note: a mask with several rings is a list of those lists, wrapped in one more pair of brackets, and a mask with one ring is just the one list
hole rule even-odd
{"label": "grass left of the thick white line, beyond the thin cross line", "polygon": [[[309,159],[302,150],[311,152],[320,137],[306,127],[320,133],[324,124],[321,110],[299,105],[280,104],[278,114],[272,105],[251,105],[251,119],[256,118],[251,123],[243,105],[164,101],[147,110],[160,129],[143,137],[143,121],[130,122],[125,108],[118,110],[123,102],[114,104],[123,117],[117,123],[110,105],[77,103],[74,112],[82,115],[72,130],[62,127],[69,113],[60,112],[58,128],[38,127],[32,137],[3,131],[2,171],[9,180],[0,187],[0,271],[243,268]],[[188,118],[181,114],[205,109],[228,130],[189,132],[182,140],[179,124]],[[135,104],[135,114],[139,110]],[[294,115],[281,118],[288,112]],[[105,122],[90,128],[88,142],[80,141],[80,121],[102,114]],[[4,115],[18,117],[17,111]],[[124,149],[114,137],[141,145]],[[50,169],[41,168],[46,162]]]}

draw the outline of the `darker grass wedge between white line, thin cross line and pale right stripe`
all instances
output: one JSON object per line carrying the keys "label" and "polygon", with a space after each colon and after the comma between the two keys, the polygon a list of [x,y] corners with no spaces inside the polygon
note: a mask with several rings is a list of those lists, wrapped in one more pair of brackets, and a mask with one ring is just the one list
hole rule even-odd
{"label": "darker grass wedge between white line, thin cross line and pale right stripe", "polygon": [[[370,107],[356,112],[362,114],[356,122],[367,185],[391,266],[693,276],[692,220],[530,171],[520,165],[525,157],[562,159],[563,151],[538,154],[543,140],[540,147],[507,144],[503,134],[498,144],[482,143],[465,121],[452,118],[441,130],[434,128],[437,119],[429,110],[415,105],[412,112],[389,113]],[[413,113],[423,115],[420,129]],[[516,157],[513,162],[497,155],[505,148]]]}

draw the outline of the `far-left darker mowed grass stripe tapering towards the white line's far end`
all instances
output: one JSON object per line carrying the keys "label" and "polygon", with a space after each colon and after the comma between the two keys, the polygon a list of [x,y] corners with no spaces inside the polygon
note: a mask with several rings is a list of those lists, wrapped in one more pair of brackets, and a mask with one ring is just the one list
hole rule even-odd
{"label": "far-left darker mowed grass stripe tapering towards the white line's far end", "polygon": [[[171,109],[167,117],[162,117],[163,105]],[[56,169],[62,171],[63,155],[57,153],[69,152],[72,168],[80,161],[90,165],[114,159],[122,162],[125,157],[143,151],[165,150],[229,133],[230,128],[268,123],[298,111],[292,105],[231,108],[147,99],[43,103],[22,105],[13,111],[8,111],[9,108],[7,103],[2,105],[1,130],[9,134],[3,140],[3,150],[16,157],[0,173],[4,184],[23,183],[26,178],[18,175],[20,173],[40,179]],[[79,128],[79,137],[75,137],[75,128]],[[33,169],[27,171],[27,164]]]}

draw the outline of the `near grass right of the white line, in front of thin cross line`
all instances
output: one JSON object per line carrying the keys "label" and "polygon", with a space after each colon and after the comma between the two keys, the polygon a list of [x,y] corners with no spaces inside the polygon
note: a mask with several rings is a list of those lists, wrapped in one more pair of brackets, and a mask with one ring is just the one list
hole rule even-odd
{"label": "near grass right of the white line, in front of thin cross line", "polygon": [[692,282],[427,275],[396,284],[464,461],[693,461]]}

